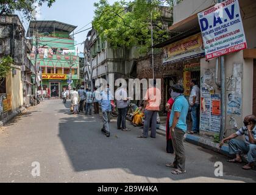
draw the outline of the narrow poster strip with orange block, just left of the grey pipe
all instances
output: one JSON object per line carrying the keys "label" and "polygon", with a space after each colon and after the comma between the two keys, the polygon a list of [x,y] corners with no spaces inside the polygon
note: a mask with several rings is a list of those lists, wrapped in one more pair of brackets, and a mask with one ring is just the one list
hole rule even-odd
{"label": "narrow poster strip with orange block, just left of the grey pipe", "polygon": [[210,131],[220,132],[221,130],[221,95],[211,95],[211,119],[210,119]]}

